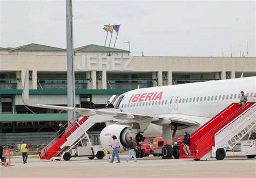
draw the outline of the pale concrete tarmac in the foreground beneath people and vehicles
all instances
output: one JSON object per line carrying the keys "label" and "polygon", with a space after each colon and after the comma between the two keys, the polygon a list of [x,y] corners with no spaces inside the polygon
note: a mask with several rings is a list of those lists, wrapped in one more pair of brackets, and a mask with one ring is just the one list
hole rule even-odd
{"label": "pale concrete tarmac in the foreground beneath people and vehicles", "polygon": [[120,158],[121,163],[109,163],[108,157],[70,161],[29,158],[25,165],[21,158],[14,158],[14,166],[0,167],[0,177],[256,177],[256,159],[246,157],[194,161],[149,156],[129,163],[124,161],[126,155]]}

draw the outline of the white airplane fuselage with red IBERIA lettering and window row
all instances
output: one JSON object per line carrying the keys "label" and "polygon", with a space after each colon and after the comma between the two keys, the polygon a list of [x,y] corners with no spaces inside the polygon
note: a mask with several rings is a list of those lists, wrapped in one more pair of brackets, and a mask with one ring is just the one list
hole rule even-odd
{"label": "white airplane fuselage with red IBERIA lettering and window row", "polygon": [[[119,101],[118,110],[167,118],[191,117],[201,126],[231,103],[239,102],[240,91],[244,91],[247,96],[256,96],[255,88],[256,77],[246,77],[136,89],[120,96],[124,97]],[[118,99],[114,105],[118,105]],[[200,126],[191,127],[191,131]],[[161,133],[159,126],[151,124],[149,129],[145,133],[150,136],[159,136]],[[177,133],[178,137],[180,133]]]}

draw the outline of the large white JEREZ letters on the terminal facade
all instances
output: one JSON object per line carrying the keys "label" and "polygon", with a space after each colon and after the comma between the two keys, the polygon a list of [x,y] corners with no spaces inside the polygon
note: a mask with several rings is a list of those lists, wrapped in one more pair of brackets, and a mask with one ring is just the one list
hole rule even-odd
{"label": "large white JEREZ letters on the terminal facade", "polygon": [[82,55],[82,63],[77,63],[78,70],[132,70],[130,63],[133,56],[120,55]]}

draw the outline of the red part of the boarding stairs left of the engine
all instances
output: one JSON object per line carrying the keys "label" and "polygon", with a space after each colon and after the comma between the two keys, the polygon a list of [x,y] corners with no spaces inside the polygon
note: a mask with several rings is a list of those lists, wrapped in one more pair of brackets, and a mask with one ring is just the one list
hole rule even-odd
{"label": "red part of the boarding stairs left of the engine", "polygon": [[[88,117],[83,117],[79,120],[79,124],[82,125]],[[51,159],[53,156],[55,156],[61,149],[60,146],[62,146],[67,138],[79,127],[78,124],[73,125],[70,123],[70,127],[66,128],[65,133],[61,138],[55,138],[56,140],[51,141],[47,146],[45,146],[41,151],[39,151],[39,155],[41,159]]]}

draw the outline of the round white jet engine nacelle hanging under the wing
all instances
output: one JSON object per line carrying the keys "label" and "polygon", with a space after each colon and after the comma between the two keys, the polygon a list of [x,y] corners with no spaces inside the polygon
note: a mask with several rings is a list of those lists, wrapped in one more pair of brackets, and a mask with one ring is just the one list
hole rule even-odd
{"label": "round white jet engine nacelle hanging under the wing", "polygon": [[129,144],[129,137],[135,140],[136,134],[137,133],[132,132],[129,125],[112,124],[106,126],[102,132],[100,132],[100,143],[104,149],[112,152],[112,136],[116,136],[120,143],[119,151],[123,152],[123,147]]}

